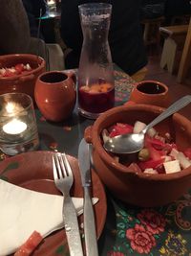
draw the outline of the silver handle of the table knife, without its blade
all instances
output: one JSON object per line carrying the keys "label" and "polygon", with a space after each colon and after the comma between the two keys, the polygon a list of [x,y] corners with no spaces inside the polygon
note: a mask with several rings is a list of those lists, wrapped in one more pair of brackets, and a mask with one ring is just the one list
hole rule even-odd
{"label": "silver handle of the table knife, without its blade", "polygon": [[89,186],[84,187],[84,235],[86,256],[98,256],[95,215]]}

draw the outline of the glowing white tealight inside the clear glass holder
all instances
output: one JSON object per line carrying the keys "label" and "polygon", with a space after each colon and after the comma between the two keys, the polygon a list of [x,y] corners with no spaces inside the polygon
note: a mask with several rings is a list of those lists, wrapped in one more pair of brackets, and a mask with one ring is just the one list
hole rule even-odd
{"label": "glowing white tealight inside the clear glass holder", "polygon": [[12,119],[11,122],[3,126],[3,130],[11,135],[19,134],[27,128],[27,125],[17,119]]}

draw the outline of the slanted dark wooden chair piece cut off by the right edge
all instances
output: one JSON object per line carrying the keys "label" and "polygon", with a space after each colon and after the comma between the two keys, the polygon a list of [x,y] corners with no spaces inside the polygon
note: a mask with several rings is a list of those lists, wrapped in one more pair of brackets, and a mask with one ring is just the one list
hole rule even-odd
{"label": "slanted dark wooden chair piece cut off by the right edge", "polygon": [[183,52],[180,59],[180,68],[178,72],[178,81],[181,82],[185,79],[188,69],[191,66],[191,18],[185,38]]}

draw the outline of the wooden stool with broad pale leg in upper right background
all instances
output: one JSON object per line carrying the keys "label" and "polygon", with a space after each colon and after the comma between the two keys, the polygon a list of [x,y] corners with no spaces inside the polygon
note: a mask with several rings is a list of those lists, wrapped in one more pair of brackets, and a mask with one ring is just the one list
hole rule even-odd
{"label": "wooden stool with broad pale leg in upper right background", "polygon": [[188,30],[188,25],[160,27],[159,32],[165,37],[160,67],[173,73],[178,50],[183,48],[183,43]]}

